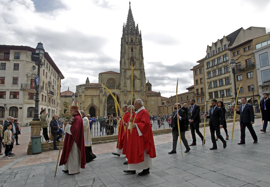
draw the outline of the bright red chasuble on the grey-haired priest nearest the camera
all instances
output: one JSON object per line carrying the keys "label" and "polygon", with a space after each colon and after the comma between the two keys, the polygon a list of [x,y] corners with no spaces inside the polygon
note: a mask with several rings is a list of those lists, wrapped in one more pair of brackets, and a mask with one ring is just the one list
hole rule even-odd
{"label": "bright red chasuble on the grey-haired priest nearest the camera", "polygon": [[[135,113],[132,115],[133,119],[134,117]],[[137,128],[132,129],[131,134],[128,137],[128,139],[130,139],[128,140],[128,151],[126,155],[128,158],[128,164],[137,164],[144,161],[143,152],[145,149],[150,158],[156,157],[153,132],[149,113],[146,109],[137,113],[134,123],[137,124],[143,135],[139,136]]]}

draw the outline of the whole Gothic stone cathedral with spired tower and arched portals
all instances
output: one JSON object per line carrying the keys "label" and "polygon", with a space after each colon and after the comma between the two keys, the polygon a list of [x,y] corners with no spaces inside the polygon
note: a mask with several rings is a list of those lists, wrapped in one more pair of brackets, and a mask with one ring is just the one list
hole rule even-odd
{"label": "whole Gothic stone cathedral with spired tower and arched portals", "polygon": [[[133,65],[133,80],[131,80],[131,64]],[[81,108],[85,113],[91,116],[107,116],[113,113],[116,116],[113,97],[101,86],[103,84],[116,95],[121,108],[123,104],[133,104],[135,99],[140,98],[150,115],[158,114],[158,106],[163,105],[164,99],[169,98],[161,97],[160,92],[152,91],[152,84],[149,81],[146,83],[142,35],[138,24],[135,25],[130,5],[121,38],[119,72],[102,72],[98,75],[98,83],[90,83],[87,77],[85,84],[76,86],[78,101],[82,104]]]}

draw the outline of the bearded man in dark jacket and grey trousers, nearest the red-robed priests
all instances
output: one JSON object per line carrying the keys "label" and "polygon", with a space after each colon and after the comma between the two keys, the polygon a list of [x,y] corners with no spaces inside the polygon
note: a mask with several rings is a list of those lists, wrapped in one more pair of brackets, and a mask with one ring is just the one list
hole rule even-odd
{"label": "bearded man in dark jacket and grey trousers, nearest the red-robed priests", "polygon": [[[173,150],[171,152],[168,152],[169,154],[176,153],[176,145],[177,140],[179,137],[179,131],[181,135],[181,140],[184,143],[184,146],[186,148],[185,152],[189,152],[190,148],[187,143],[187,139],[185,137],[185,131],[186,131],[186,125],[185,121],[187,119],[187,115],[184,112],[184,110],[180,109],[181,105],[178,103],[178,113],[177,113],[177,103],[174,105],[173,115],[172,115],[172,134],[173,134]],[[177,120],[179,120],[179,131],[178,131],[178,123]]]}

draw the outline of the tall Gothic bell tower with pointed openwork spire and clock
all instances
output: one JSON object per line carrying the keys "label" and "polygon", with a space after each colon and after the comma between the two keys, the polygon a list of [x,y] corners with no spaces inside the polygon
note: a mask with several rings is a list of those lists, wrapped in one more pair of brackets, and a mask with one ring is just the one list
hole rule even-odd
{"label": "tall Gothic bell tower with pointed openwork spire and clock", "polygon": [[[131,63],[133,65],[133,80],[131,80]],[[120,92],[121,103],[130,104],[135,99],[146,101],[146,78],[143,64],[142,34],[138,24],[135,26],[130,2],[127,23],[123,25],[120,53]],[[133,96],[131,101],[131,85]],[[146,106],[146,105],[145,105]]]}

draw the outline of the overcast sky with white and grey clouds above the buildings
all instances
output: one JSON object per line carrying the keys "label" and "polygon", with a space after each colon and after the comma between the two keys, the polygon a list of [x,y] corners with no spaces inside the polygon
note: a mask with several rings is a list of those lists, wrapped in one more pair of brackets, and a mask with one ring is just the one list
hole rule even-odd
{"label": "overcast sky with white and grey clouds above the buildings", "polygon": [[[64,80],[61,92],[119,72],[127,0],[0,0],[0,44],[35,48],[41,41]],[[143,39],[146,82],[164,97],[193,85],[190,69],[207,45],[243,27],[270,31],[269,0],[131,1]]]}

